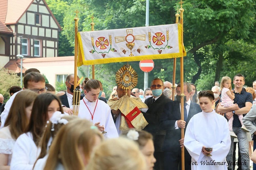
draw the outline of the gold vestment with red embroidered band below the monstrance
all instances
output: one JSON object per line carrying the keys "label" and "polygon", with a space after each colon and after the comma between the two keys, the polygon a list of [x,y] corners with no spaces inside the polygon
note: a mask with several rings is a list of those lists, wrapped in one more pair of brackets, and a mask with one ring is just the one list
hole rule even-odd
{"label": "gold vestment with red embroidered band below the monstrance", "polygon": [[142,130],[148,124],[143,114],[139,110],[140,108],[148,108],[147,105],[140,101],[140,98],[130,98],[124,95],[119,100],[111,99],[108,101],[111,109],[117,111],[120,110],[121,122],[119,129],[121,131],[129,128],[135,128],[136,130]]}

